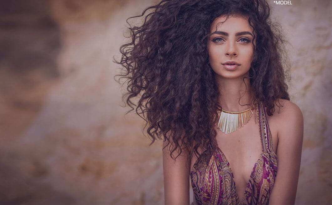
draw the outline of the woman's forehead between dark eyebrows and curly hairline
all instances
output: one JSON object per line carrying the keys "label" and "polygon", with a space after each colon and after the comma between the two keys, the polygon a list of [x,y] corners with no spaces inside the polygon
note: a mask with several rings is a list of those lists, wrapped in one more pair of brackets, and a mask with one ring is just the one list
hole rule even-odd
{"label": "woman's forehead between dark eyebrows and curly hairline", "polygon": [[[210,32],[225,31],[225,32],[238,32],[238,31],[253,31],[253,28],[249,25],[247,17],[232,17],[225,21],[226,17],[221,16],[216,18],[210,27]],[[225,22],[223,22],[225,21]],[[223,23],[222,23],[223,22]]]}

